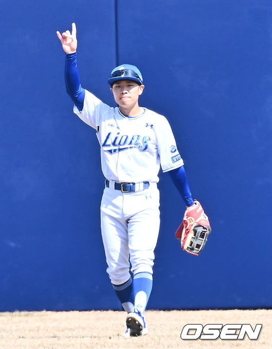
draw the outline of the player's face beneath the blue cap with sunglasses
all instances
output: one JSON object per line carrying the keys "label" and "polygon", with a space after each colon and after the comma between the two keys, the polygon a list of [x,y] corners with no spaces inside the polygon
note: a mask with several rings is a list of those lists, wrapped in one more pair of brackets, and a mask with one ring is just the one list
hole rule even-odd
{"label": "player's face beneath the blue cap with sunglasses", "polygon": [[139,95],[143,93],[144,85],[138,85],[134,81],[121,80],[113,84],[110,89],[114,100],[119,106],[130,106],[138,103]]}

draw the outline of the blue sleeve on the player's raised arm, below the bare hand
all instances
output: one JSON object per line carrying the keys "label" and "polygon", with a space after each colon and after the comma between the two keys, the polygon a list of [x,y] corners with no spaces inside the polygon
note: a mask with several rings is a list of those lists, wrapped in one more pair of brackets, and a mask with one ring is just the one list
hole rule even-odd
{"label": "blue sleeve on the player's raised arm, below the bare hand", "polygon": [[79,72],[77,71],[76,52],[66,54],[65,61],[66,92],[80,111],[83,109],[85,90],[81,87]]}

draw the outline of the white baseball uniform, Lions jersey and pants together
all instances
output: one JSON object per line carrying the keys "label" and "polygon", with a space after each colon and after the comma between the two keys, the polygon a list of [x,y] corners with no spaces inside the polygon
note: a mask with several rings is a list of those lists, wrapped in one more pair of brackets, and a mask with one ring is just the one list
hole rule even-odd
{"label": "white baseball uniform, Lions jersey and pants together", "polygon": [[[85,90],[84,108],[74,112],[96,129],[101,164],[108,180],[101,202],[101,228],[108,264],[115,285],[126,282],[129,260],[134,274],[152,274],[160,212],[160,166],[163,172],[183,165],[171,127],[163,115],[143,108],[127,117]],[[114,182],[135,183],[135,192],[114,189]],[[144,182],[149,182],[145,188]]]}

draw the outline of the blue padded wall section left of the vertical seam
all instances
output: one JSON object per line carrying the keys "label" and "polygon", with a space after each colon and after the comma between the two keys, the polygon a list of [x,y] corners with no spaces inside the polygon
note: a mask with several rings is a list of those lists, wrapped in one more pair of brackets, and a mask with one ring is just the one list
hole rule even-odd
{"label": "blue padded wall section left of the vertical seam", "polygon": [[0,14],[0,310],[100,306],[111,286],[100,234],[99,144],[72,112],[56,30],[76,23],[82,85],[110,103],[114,3],[18,3],[5,2]]}

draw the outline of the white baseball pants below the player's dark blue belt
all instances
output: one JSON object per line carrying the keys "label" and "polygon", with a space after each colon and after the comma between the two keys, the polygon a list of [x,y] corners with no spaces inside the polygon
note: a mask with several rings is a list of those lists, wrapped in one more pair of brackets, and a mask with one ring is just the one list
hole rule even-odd
{"label": "white baseball pants below the player's dark blue belt", "polygon": [[129,193],[114,190],[112,185],[104,189],[101,230],[111,283],[119,285],[130,278],[129,261],[133,274],[152,274],[160,228],[159,205],[157,183]]}

